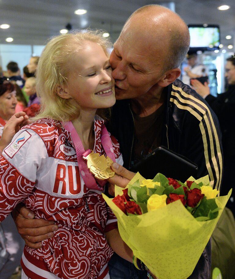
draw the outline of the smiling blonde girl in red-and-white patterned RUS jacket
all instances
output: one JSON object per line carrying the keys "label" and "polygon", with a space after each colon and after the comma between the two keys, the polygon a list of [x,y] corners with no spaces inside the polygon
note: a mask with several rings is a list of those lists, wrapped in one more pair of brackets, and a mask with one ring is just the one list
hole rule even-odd
{"label": "smiling blonde girl in red-and-white patterned RUS jacket", "polygon": [[40,249],[25,246],[22,278],[109,278],[111,248],[132,262],[102,198],[103,182],[81,157],[92,149],[122,164],[118,142],[96,115],[115,103],[109,46],[91,31],[47,44],[37,67],[41,111],[0,157],[0,220],[23,201],[36,218],[58,226]]}

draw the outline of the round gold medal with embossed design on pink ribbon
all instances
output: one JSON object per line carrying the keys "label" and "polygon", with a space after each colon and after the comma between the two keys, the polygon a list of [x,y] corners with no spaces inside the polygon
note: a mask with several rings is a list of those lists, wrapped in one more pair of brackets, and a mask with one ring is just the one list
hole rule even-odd
{"label": "round gold medal with embossed design on pink ribbon", "polygon": [[99,156],[98,153],[91,153],[87,156],[83,156],[84,160],[87,160],[87,167],[97,179],[107,179],[113,177],[115,172],[111,169],[113,161],[107,156]]}

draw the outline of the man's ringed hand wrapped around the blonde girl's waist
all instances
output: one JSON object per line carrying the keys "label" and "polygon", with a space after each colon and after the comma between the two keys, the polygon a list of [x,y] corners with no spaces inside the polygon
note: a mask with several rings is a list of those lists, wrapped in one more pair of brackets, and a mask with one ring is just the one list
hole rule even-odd
{"label": "man's ringed hand wrapped around the blonde girl's waist", "polygon": [[53,237],[53,232],[58,229],[53,221],[34,219],[33,212],[22,204],[17,205],[12,211],[12,216],[18,233],[30,248],[42,247],[41,241]]}

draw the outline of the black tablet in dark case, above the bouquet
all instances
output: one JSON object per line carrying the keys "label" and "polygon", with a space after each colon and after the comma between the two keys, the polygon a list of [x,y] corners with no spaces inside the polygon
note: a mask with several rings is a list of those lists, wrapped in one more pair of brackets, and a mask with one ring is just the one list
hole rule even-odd
{"label": "black tablet in dark case, above the bouquet", "polygon": [[157,173],[185,182],[196,175],[198,166],[165,146],[159,146],[136,163],[130,171],[139,172],[146,179],[153,179]]}

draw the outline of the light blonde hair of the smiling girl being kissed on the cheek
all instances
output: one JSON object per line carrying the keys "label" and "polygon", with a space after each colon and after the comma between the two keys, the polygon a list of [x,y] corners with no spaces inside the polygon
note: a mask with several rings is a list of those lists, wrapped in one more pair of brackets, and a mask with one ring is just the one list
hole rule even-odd
{"label": "light blonde hair of the smiling girl being kissed on the cheek", "polygon": [[[67,122],[79,116],[77,103],[72,99],[59,97],[57,89],[63,88],[67,83],[73,72],[73,55],[82,49],[84,41],[97,43],[107,57],[110,56],[109,48],[112,44],[109,39],[103,38],[102,34],[101,31],[73,31],[55,36],[47,43],[38,62],[36,77],[36,91],[41,100],[41,109],[33,120],[46,117]],[[100,113],[102,117],[105,116],[103,112]]]}

